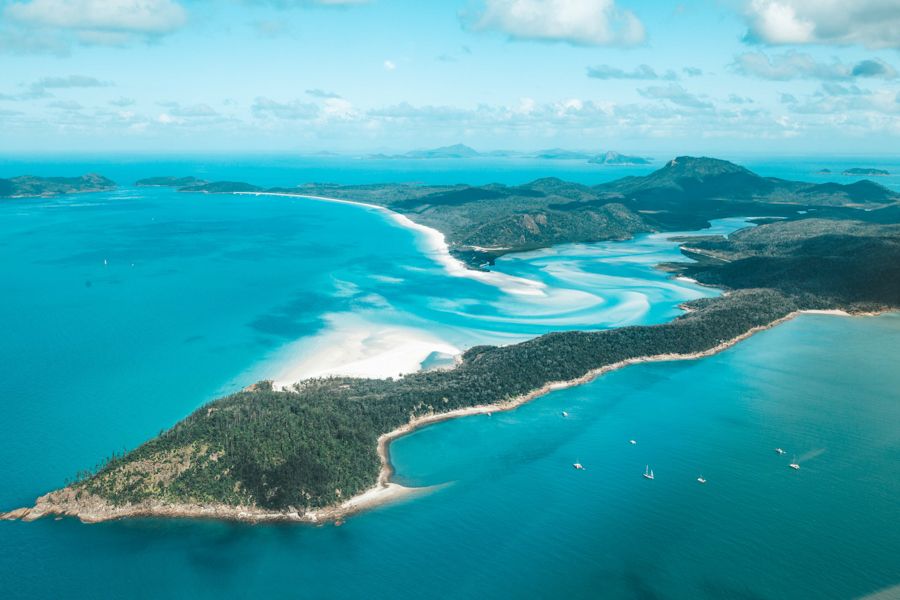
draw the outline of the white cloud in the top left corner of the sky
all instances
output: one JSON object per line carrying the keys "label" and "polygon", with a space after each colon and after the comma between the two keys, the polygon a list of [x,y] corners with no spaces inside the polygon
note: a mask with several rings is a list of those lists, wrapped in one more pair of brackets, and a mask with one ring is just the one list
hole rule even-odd
{"label": "white cloud in the top left corner of the sky", "polygon": [[3,16],[38,35],[68,32],[83,44],[108,46],[163,36],[187,22],[175,0],[29,0],[8,4]]}

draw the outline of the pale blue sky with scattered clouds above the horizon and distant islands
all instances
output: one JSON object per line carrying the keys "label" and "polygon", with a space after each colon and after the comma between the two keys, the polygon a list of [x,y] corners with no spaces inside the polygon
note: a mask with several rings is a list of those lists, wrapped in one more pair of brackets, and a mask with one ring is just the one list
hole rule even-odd
{"label": "pale blue sky with scattered clouds above the horizon and distant islands", "polygon": [[0,0],[0,152],[900,154],[900,0]]}

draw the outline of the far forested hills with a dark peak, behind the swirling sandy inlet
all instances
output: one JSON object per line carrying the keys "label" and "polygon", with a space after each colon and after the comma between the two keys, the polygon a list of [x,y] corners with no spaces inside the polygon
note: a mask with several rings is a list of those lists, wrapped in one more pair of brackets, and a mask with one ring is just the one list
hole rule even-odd
{"label": "far forested hills with a dark peak, behind the swirling sandy inlet", "polygon": [[213,182],[181,191],[270,191],[379,204],[444,233],[451,252],[473,267],[510,252],[701,229],[723,217],[795,218],[810,211],[870,210],[900,201],[900,195],[867,180],[848,185],[787,181],[761,177],[728,161],[690,156],[646,176],[597,186],[551,177],[518,186],[304,184],[270,190]]}

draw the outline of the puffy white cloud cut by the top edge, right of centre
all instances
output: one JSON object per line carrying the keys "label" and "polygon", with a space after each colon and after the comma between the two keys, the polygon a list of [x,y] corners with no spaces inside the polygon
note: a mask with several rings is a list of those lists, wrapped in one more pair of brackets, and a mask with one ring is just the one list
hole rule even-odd
{"label": "puffy white cloud cut by the top edge, right of centre", "polygon": [[637,16],[615,0],[485,0],[472,27],[581,46],[633,46],[645,39]]}

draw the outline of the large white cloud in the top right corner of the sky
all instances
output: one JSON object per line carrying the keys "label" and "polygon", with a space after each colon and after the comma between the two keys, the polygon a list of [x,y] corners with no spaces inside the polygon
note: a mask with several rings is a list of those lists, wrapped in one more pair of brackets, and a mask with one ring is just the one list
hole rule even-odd
{"label": "large white cloud in the top right corner of the sky", "polygon": [[897,0],[750,0],[745,12],[750,41],[900,47]]}

